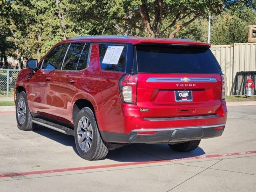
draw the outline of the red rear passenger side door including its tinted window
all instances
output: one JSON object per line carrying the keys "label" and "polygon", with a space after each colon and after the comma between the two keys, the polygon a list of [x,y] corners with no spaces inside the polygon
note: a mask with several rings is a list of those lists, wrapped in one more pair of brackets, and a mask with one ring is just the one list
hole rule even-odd
{"label": "red rear passenger side door including its tinted window", "polygon": [[87,68],[90,43],[71,43],[61,70],[56,70],[52,83],[52,112],[55,118],[72,123],[72,103],[79,78]]}

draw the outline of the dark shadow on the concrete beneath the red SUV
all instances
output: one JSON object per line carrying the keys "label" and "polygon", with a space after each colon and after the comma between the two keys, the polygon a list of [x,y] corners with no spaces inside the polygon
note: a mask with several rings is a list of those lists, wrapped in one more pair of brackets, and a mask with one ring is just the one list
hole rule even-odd
{"label": "dark shadow on the concrete beneath the red SUV", "polygon": [[[66,135],[44,126],[38,126],[33,132],[65,146],[72,146],[74,152],[79,155],[76,150],[74,136]],[[176,152],[172,150],[168,144],[130,144],[115,150],[109,150],[106,159],[117,162],[142,162],[189,158],[203,154],[205,154],[205,152],[200,147],[191,152]]]}

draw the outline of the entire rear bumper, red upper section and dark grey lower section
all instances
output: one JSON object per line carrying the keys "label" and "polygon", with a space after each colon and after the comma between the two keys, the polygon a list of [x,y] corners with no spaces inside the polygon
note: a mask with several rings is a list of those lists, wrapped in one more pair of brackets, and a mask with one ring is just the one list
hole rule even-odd
{"label": "entire rear bumper, red upper section and dark grey lower section", "polygon": [[140,118],[138,107],[132,104],[124,105],[123,112],[124,115],[104,119],[100,133],[106,142],[174,143],[218,137],[224,131],[228,114],[225,102],[216,114],[205,116]]}

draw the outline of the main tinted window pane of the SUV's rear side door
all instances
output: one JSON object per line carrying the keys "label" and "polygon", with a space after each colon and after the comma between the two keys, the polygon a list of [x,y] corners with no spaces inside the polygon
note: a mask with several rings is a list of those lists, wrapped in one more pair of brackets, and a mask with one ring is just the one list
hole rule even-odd
{"label": "main tinted window pane of the SUV's rear side door", "polygon": [[71,43],[68,48],[62,70],[76,70],[78,60],[84,48],[84,43]]}

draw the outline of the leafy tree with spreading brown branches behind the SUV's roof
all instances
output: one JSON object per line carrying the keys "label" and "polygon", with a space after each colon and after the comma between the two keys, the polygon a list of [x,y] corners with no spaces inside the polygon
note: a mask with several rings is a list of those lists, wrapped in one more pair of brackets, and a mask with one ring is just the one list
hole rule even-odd
{"label": "leafy tree with spreading brown branches behind the SUV's roof", "polygon": [[94,34],[108,29],[119,34],[173,38],[197,18],[218,14],[222,0],[72,0],[79,6],[71,16],[78,22],[98,26]]}

